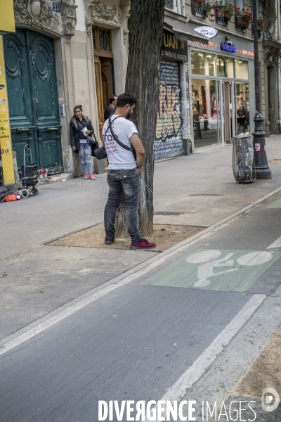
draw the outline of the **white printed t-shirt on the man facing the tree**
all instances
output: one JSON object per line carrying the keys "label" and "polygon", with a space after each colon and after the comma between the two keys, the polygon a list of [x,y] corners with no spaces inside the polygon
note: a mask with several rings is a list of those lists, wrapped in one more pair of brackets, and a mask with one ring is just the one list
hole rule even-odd
{"label": "white printed t-shirt on the man facing the tree", "polygon": [[[111,117],[112,129],[120,142],[131,148],[130,138],[133,134],[137,134],[136,125],[124,117],[112,115]],[[133,153],[118,143],[113,138],[109,120],[105,120],[103,124],[103,141],[105,142],[105,149],[107,153],[108,169],[109,170],[131,170],[136,168],[136,160]]]}

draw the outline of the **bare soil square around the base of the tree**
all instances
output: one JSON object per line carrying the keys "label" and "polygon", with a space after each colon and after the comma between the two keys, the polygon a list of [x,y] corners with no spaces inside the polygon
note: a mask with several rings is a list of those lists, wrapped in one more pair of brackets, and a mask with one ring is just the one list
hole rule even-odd
{"label": "bare soil square around the base of the tree", "polygon": [[[153,233],[148,236],[150,242],[156,243],[155,252],[171,248],[171,246],[181,243],[194,236],[200,231],[206,229],[202,226],[180,226],[178,224],[154,224]],[[116,238],[112,245],[105,245],[105,229],[103,223],[76,231],[75,233],[63,236],[48,245],[79,247],[79,248],[110,248],[110,249],[129,249],[131,246],[130,238]],[[150,249],[151,250],[151,249]]]}

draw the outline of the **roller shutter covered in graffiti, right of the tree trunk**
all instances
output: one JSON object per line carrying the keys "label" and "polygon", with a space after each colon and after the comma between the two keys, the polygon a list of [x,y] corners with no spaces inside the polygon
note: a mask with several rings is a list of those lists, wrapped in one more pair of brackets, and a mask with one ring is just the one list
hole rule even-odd
{"label": "roller shutter covered in graffiti, right of the tree trunk", "polygon": [[183,152],[178,63],[162,61],[160,75],[155,160],[174,157]]}

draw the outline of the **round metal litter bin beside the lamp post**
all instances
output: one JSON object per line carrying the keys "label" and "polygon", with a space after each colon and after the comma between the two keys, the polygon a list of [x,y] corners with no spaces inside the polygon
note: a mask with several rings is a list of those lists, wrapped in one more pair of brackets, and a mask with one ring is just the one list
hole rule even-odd
{"label": "round metal litter bin beside the lamp post", "polygon": [[238,183],[251,183],[256,179],[253,136],[233,136],[233,174]]}

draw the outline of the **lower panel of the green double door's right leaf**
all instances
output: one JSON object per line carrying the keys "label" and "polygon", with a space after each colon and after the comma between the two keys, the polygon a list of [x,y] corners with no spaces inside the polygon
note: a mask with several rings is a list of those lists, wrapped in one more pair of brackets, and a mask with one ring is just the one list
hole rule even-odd
{"label": "lower panel of the green double door's right leaf", "polygon": [[60,145],[60,130],[60,126],[38,129],[41,167],[48,169],[48,174],[63,172],[60,149],[58,149]]}

